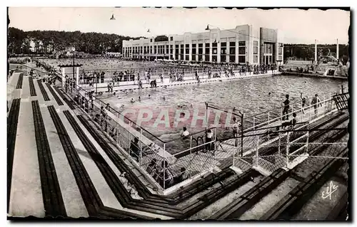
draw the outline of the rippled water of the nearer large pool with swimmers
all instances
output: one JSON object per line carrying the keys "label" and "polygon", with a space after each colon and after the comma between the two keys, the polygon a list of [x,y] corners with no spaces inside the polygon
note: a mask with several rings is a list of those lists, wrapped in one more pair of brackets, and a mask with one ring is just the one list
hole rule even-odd
{"label": "rippled water of the nearer large pool with swimmers", "polygon": [[[192,116],[196,114],[196,116],[205,118],[202,117],[206,111],[205,102],[220,107],[222,110],[232,110],[233,107],[236,107],[237,110],[244,113],[245,117],[248,117],[271,110],[274,107],[280,107],[286,94],[290,95],[291,103],[301,100],[300,93],[303,93],[304,96],[307,95],[309,100],[313,95],[319,94],[322,100],[323,94],[328,95],[330,92],[341,91],[341,85],[343,85],[343,88],[348,88],[346,80],[281,75],[203,83],[201,85],[180,85],[166,89],[152,88],[127,93],[118,92],[116,96],[104,94],[99,98],[108,102],[111,107],[115,107],[117,110],[124,110],[126,117],[135,122],[139,121],[139,125],[159,139],[167,141],[180,138],[183,126],[186,126],[190,133],[204,130],[203,120],[196,120],[196,124],[193,124],[194,117]],[[271,93],[271,95],[268,95],[268,93]],[[139,96],[141,101],[139,101]],[[135,102],[131,102],[132,98]],[[298,107],[298,105],[296,104],[294,107]],[[183,116],[180,115],[180,112],[186,114]],[[138,117],[138,115],[141,117]],[[168,116],[169,119],[166,119]],[[226,118],[229,118],[228,120],[222,116],[219,120],[219,123],[223,123],[221,136],[227,131],[230,132],[226,129],[227,125],[224,125],[224,123],[231,123],[231,116],[226,116]],[[180,117],[183,117],[183,120],[185,117],[188,119],[177,122]],[[142,118],[144,120],[141,120]],[[150,120],[146,120],[146,118]],[[165,124],[160,120],[169,122]],[[211,115],[210,110],[208,126],[212,126],[213,122],[215,122],[215,114]],[[217,133],[218,136],[220,135]],[[183,150],[180,147],[181,145],[178,144],[177,146],[176,149]]]}

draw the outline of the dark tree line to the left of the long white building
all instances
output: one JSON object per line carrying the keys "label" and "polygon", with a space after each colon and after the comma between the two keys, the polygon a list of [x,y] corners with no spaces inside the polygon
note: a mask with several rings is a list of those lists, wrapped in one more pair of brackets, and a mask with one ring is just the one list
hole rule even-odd
{"label": "dark tree line to the left of the long white building", "polygon": [[[8,51],[10,54],[49,54],[74,47],[76,51],[91,54],[102,54],[106,51],[121,52],[123,40],[131,38],[116,34],[83,33],[81,31],[22,31],[10,27],[8,29]],[[32,50],[31,43],[33,43]]]}

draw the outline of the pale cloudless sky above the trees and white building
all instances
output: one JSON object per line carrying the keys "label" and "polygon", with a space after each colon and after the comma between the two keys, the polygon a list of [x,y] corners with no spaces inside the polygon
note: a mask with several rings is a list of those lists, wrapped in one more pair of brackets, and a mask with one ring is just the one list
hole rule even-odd
{"label": "pale cloudless sky above the trees and white building", "polygon": [[[114,14],[116,20],[109,20]],[[350,12],[338,9],[155,9],[155,8],[40,8],[10,7],[9,26],[32,30],[116,33],[122,36],[159,36],[231,29],[251,24],[279,29],[284,43],[348,43]],[[147,33],[150,29],[151,33]]]}

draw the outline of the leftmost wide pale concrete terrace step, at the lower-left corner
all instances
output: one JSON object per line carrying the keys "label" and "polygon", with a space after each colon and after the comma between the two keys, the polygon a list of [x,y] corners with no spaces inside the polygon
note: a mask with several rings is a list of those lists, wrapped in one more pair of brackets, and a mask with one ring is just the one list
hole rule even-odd
{"label": "leftmost wide pale concrete terrace step, at the lower-left corner", "polygon": [[31,102],[21,102],[12,169],[9,216],[44,217]]}

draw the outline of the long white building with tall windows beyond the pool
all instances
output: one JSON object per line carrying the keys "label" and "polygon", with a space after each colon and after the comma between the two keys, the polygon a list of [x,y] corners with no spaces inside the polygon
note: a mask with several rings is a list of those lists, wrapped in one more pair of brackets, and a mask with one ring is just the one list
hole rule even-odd
{"label": "long white building with tall windows beyond the pool", "polygon": [[228,30],[215,28],[202,33],[123,41],[123,56],[149,60],[271,64],[283,60],[283,36],[277,29],[251,25]]}

